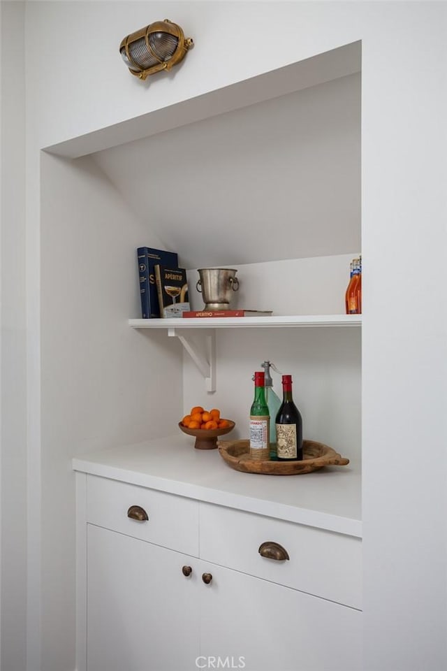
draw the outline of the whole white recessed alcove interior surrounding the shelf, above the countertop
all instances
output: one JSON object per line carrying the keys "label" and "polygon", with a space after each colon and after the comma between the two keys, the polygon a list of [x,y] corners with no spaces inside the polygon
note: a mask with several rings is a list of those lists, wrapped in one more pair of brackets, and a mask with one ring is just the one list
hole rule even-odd
{"label": "whole white recessed alcove interior surrounding the shelf, above the countertop", "polygon": [[[351,460],[349,487],[337,491],[333,472],[334,500],[361,535],[361,319],[344,314],[361,247],[360,43],[46,147],[41,183],[45,564],[74,514],[66,456],[178,435],[196,404],[221,407],[245,438],[265,359],[293,375],[305,438]],[[272,319],[171,335],[173,324],[142,323],[140,245],[178,252],[193,308],[197,268],[231,266],[235,306]],[[173,335],[212,363],[211,387]],[[72,561],[71,542],[58,551]]]}

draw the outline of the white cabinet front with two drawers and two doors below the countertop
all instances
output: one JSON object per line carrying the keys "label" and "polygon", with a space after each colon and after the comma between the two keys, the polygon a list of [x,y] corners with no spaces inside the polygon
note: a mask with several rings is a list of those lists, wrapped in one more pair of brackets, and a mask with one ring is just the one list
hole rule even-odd
{"label": "white cabinet front with two drawers and two doors below the countertop", "polygon": [[[360,539],[115,479],[78,479],[80,671],[194,671],[219,658],[247,671],[298,663],[358,671]],[[142,519],[128,517],[135,505]],[[261,556],[261,540],[280,542],[290,558]],[[318,580],[325,563],[332,573]]]}

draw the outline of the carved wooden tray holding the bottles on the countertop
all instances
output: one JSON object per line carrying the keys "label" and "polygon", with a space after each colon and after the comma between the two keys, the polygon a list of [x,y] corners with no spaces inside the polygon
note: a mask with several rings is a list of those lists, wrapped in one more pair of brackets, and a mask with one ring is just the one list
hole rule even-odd
{"label": "carved wooden tray holding the bottles on the countertop", "polygon": [[249,440],[223,440],[218,442],[219,454],[228,466],[243,473],[261,475],[302,475],[324,466],[346,466],[349,459],[335,449],[314,440],[303,440],[302,461],[254,461],[249,455]]}

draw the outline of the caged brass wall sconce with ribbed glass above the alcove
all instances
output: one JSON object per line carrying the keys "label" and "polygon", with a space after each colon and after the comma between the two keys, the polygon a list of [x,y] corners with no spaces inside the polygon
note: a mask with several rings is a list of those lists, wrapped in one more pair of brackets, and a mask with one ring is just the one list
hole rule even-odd
{"label": "caged brass wall sconce with ribbed glass above the alcove", "polygon": [[161,70],[170,70],[186,56],[193,44],[176,23],[165,19],[131,33],[119,45],[119,53],[133,75],[145,80]]}

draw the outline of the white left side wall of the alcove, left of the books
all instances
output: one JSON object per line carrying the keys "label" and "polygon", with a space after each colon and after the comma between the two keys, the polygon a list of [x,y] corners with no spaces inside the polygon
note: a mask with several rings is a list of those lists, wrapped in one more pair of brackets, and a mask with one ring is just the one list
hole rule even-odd
{"label": "white left side wall of the alcove, left of the books", "polygon": [[147,229],[110,182],[88,157],[48,154],[41,177],[42,668],[57,670],[74,663],[71,459],[163,435],[181,412],[182,352],[127,326]]}

